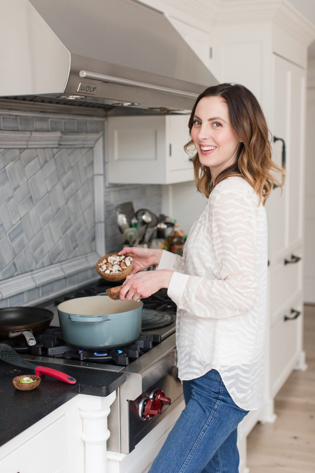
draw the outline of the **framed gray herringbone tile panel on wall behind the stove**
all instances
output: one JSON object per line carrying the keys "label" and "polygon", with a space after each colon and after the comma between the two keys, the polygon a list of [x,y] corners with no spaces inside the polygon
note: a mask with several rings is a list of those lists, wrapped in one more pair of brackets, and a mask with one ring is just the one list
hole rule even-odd
{"label": "framed gray herringbone tile panel on wall behind the stove", "polygon": [[94,251],[92,149],[0,150],[0,280]]}

